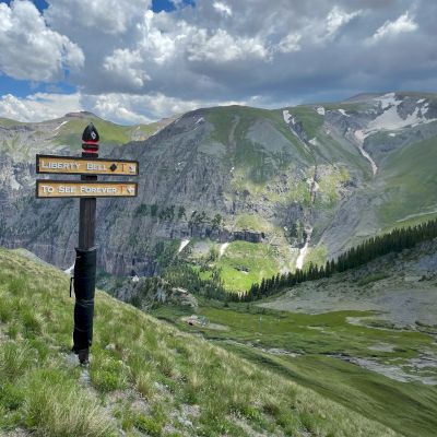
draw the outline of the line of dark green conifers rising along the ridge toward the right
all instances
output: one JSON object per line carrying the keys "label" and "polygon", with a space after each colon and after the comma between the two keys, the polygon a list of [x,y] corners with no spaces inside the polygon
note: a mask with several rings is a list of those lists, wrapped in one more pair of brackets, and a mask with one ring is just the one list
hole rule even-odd
{"label": "line of dark green conifers rising along the ridge toward the right", "polygon": [[198,272],[187,269],[184,265],[175,265],[166,279],[175,285],[186,286],[194,294],[205,297],[229,302],[251,302],[271,296],[284,287],[291,287],[305,281],[329,277],[333,273],[363,265],[378,257],[390,252],[400,252],[411,248],[418,243],[437,237],[437,220],[433,220],[414,227],[397,228],[381,236],[373,237],[357,247],[349,249],[336,260],[327,261],[324,265],[318,267],[309,263],[306,270],[297,269],[294,273],[277,273],[271,279],[263,279],[261,284],[252,284],[245,294],[234,294],[225,291],[220,277],[202,280]]}

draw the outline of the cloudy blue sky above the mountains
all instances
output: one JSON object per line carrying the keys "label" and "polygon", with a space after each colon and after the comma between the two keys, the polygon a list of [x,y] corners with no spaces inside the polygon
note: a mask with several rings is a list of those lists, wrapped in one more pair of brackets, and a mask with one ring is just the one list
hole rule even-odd
{"label": "cloudy blue sky above the mountains", "polygon": [[0,0],[0,117],[437,92],[436,0]]}

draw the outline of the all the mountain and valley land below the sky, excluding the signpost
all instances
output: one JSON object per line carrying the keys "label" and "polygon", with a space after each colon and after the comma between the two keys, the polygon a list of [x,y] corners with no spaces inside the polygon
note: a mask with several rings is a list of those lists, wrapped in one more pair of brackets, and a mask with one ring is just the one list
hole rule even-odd
{"label": "all the mountain and valley land below the sky, excluding the signpost", "polygon": [[[60,271],[79,201],[35,198],[35,155],[79,156],[91,121],[140,176],[137,198],[97,200],[113,297],[82,367]],[[0,435],[435,437],[436,163],[436,94],[0,119]]]}

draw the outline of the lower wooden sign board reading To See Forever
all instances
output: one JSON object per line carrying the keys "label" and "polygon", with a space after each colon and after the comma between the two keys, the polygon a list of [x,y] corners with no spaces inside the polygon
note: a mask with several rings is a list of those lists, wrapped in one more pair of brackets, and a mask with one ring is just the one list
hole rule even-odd
{"label": "lower wooden sign board reading To See Forever", "polygon": [[55,198],[134,198],[137,182],[97,182],[85,180],[47,180],[36,181],[36,197]]}

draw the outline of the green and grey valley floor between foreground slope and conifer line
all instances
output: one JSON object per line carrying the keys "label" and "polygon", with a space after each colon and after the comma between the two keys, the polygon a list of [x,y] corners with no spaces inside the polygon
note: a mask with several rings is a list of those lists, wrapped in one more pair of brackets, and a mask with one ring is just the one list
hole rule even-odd
{"label": "green and grey valley floor between foreground slope and conifer line", "polygon": [[435,437],[436,272],[434,239],[255,303],[199,298],[192,326],[191,308],[153,314],[403,436]]}

